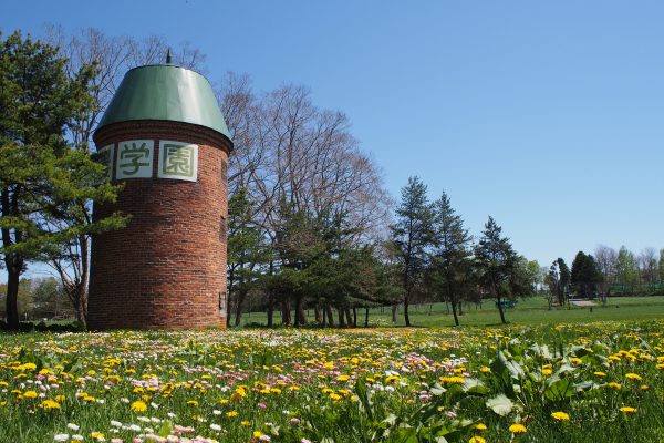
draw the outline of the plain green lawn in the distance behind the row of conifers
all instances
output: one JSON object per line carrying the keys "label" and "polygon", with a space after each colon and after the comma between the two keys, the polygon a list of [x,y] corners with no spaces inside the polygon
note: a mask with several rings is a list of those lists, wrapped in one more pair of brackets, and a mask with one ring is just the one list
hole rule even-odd
{"label": "plain green lawn in the distance behind the row of conifers", "polygon": [[[454,326],[452,312],[447,312],[445,303],[427,303],[411,306],[411,323],[416,327],[448,327]],[[664,319],[664,297],[616,297],[611,298],[606,305],[598,302],[592,308],[554,307],[548,309],[547,301],[541,297],[519,300],[516,308],[506,309],[505,316],[510,323],[546,324],[566,322],[589,322],[609,320],[655,320]],[[280,313],[274,313],[276,321]],[[313,319],[309,311],[308,319]],[[403,309],[398,311],[396,323],[392,323],[391,309],[374,308],[370,310],[370,326],[404,326]],[[481,307],[475,303],[464,305],[464,315],[460,316],[461,326],[498,326],[500,316],[495,302],[486,300]],[[242,316],[242,323],[266,323],[264,312],[251,312]],[[364,324],[364,310],[357,310],[357,324]]]}

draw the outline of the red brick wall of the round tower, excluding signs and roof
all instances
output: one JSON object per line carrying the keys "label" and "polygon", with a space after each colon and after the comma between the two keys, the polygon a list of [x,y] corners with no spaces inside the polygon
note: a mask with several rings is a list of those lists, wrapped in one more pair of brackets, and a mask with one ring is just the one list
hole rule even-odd
{"label": "red brick wall of the round tower, excluding signs and roof", "polygon": [[[226,239],[219,234],[221,216],[228,218],[221,162],[230,142],[203,126],[162,121],[116,123],[95,134],[100,147],[127,140],[154,140],[153,177],[121,181],[116,204],[94,207],[95,218],[114,210],[132,218],[126,228],[93,238],[89,327],[225,327]],[[160,140],[198,145],[196,183],[157,178]]]}

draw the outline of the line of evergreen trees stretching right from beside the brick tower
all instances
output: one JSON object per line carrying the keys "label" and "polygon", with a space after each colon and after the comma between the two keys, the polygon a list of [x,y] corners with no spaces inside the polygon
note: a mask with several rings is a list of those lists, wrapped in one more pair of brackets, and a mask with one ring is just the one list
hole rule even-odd
{"label": "line of evergreen trees stretching right from beside the brick tower", "polygon": [[[273,218],[252,217],[246,188],[229,206],[231,318],[241,324],[243,306],[267,311],[268,326],[315,322],[357,324],[357,309],[403,307],[411,326],[412,303],[445,301],[459,324],[463,301],[496,299],[504,322],[507,300],[535,293],[540,266],[518,256],[489,217],[477,241],[445,193],[429,202],[427,187],[412,177],[383,233],[353,222],[352,212],[315,213],[277,193]],[[377,234],[377,235],[376,235]],[[307,311],[314,312],[313,319]],[[291,318],[291,311],[294,318]],[[362,312],[361,312],[362,313]],[[360,316],[362,318],[362,315]]]}

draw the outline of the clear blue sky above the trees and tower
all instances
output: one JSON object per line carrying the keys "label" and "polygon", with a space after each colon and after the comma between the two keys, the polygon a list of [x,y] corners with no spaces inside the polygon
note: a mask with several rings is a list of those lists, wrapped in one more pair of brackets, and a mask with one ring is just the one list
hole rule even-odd
{"label": "clear blue sky above the trees and tower", "polygon": [[664,247],[658,1],[10,1],[0,29],[165,35],[211,81],[311,87],[398,198],[418,175],[530,259]]}

